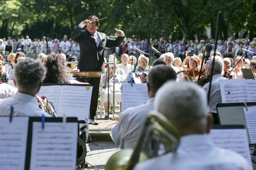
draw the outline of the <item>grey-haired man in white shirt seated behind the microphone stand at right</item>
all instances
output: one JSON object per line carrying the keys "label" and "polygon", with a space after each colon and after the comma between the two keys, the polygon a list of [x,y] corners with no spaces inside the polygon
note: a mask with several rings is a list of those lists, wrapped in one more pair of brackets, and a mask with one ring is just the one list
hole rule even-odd
{"label": "grey-haired man in white shirt seated behind the microphone stand at right", "polygon": [[[210,76],[212,71],[212,64],[213,64],[213,56],[212,59],[207,60],[205,64],[205,76]],[[215,62],[214,62],[214,68],[212,73],[212,86],[211,86],[211,93],[209,98],[209,106],[208,106],[208,112],[212,113],[214,117],[214,124],[219,124],[218,114],[216,105],[218,103],[222,103],[221,99],[221,86],[220,86],[220,80],[226,79],[221,75],[222,68],[223,68],[223,61],[220,56],[215,56]],[[206,83],[203,86],[203,89],[206,91],[206,93],[209,92],[209,85],[210,83]]]}

